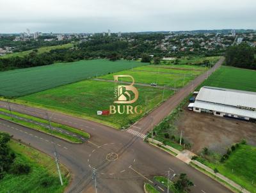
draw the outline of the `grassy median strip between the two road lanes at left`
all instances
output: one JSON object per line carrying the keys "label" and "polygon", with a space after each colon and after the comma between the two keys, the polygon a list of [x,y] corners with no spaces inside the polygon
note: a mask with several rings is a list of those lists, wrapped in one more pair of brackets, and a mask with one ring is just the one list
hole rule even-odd
{"label": "grassy median strip between the two road lanes at left", "polygon": [[[12,121],[14,123],[24,125],[25,127],[29,127],[31,129],[39,130],[41,132],[45,132],[47,134],[54,135],[56,137],[60,137],[61,139],[65,139],[65,140],[70,141],[72,143],[82,143],[83,142],[83,140],[79,137],[74,137],[73,135],[66,134],[65,132],[58,132],[57,130],[52,130],[49,127],[49,125],[48,125],[49,122],[47,120],[43,120],[43,119],[40,119],[40,118],[36,118],[36,117],[29,116],[29,115],[26,115],[26,114],[21,114],[19,112],[14,112],[14,111],[12,111],[12,116],[10,116],[10,111],[8,111],[6,109],[2,109],[2,108],[0,108],[0,111],[1,112],[6,112],[6,113],[9,114],[9,115],[7,115],[7,114],[0,113],[0,118],[2,118],[4,120]],[[20,119],[20,118],[22,118],[22,119]],[[24,120],[24,118],[26,118],[29,121]],[[39,123],[39,124],[33,123],[33,121],[36,121],[36,123]],[[40,125],[40,123],[44,123],[44,126]],[[81,130],[78,130],[76,128],[68,127],[66,125],[61,125],[61,124],[54,123],[54,122],[51,122],[51,126],[56,127],[56,128],[61,128],[65,131],[67,131],[67,132],[72,132],[72,134],[80,135],[80,136],[84,137],[84,139],[90,138],[90,134],[88,134],[86,132],[83,132]]]}

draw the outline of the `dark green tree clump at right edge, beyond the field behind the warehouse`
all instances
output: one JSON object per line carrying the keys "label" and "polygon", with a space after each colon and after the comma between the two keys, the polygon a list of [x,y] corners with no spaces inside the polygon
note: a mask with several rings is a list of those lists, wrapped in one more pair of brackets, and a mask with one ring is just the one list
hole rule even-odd
{"label": "dark green tree clump at right edge, beyond the field behind the warehouse", "polygon": [[256,69],[255,54],[255,48],[253,49],[247,43],[241,43],[227,49],[226,63],[228,66]]}

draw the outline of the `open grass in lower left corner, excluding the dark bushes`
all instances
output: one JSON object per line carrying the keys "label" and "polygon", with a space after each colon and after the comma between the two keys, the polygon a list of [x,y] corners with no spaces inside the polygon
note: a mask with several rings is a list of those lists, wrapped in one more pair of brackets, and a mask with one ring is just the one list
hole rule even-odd
{"label": "open grass in lower left corner, excluding the dark bushes", "polygon": [[[17,158],[21,159],[31,166],[29,174],[6,174],[0,180],[0,192],[30,192],[30,193],[62,193],[68,185],[70,176],[65,167],[61,166],[61,173],[63,175],[64,185],[61,187],[58,174],[56,172],[56,164],[54,160],[24,144],[12,141],[9,143],[10,148],[17,154]],[[43,182],[49,181],[49,185],[45,187]]]}

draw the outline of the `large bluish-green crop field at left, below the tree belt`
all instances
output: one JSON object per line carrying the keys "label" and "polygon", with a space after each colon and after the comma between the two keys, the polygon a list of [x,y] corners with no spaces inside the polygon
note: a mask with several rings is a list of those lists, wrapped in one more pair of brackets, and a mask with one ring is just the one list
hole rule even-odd
{"label": "large bluish-green crop field at left, below the tree belt", "polygon": [[142,65],[147,65],[147,63],[93,59],[0,72],[0,96],[29,95],[45,89],[90,79],[97,75]]}

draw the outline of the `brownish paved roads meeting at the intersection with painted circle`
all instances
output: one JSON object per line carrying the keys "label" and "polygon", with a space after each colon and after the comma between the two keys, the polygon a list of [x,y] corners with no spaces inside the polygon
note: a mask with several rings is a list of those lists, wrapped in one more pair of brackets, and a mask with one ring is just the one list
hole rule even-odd
{"label": "brownish paved roads meeting at the intersection with painted circle", "polygon": [[[220,63],[216,67],[219,65]],[[192,85],[196,86],[204,79],[205,75],[202,75],[193,81]],[[177,97],[182,100],[188,95],[191,88],[186,86],[182,90],[181,93],[179,91],[172,96],[176,100],[169,99],[155,110],[161,116],[152,111],[130,129],[138,129],[140,133],[150,130],[151,123],[148,121],[148,117],[154,115],[154,124],[159,123],[164,115],[172,111],[175,104],[179,104]],[[169,103],[172,103],[172,105],[169,105]],[[7,108],[6,102],[0,102],[0,106]],[[11,104],[11,107],[13,111],[45,118],[44,109],[18,104]],[[30,143],[31,146],[51,156],[54,150],[53,143],[55,143],[61,163],[70,169],[73,176],[72,183],[66,192],[94,192],[92,183],[93,167],[97,169],[98,192],[143,192],[144,181],[152,183],[149,180],[150,178],[154,175],[166,175],[168,170],[176,174],[187,173],[196,185],[192,188],[192,192],[231,192],[220,183],[208,178],[177,158],[144,143],[141,140],[141,135],[138,136],[135,133],[131,134],[125,131],[120,132],[93,121],[58,112],[54,113],[53,120],[57,123],[86,130],[92,135],[92,139],[84,144],[71,144],[4,120],[0,120],[0,130],[12,134],[15,139]]]}

